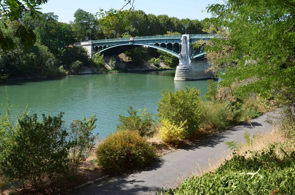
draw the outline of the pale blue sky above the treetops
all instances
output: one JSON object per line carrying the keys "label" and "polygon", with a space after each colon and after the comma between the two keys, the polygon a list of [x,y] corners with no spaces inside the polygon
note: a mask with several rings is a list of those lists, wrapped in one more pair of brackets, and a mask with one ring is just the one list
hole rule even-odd
{"label": "pale blue sky above the treetops", "polygon": [[[135,0],[134,6],[136,10],[143,10],[146,14],[166,14],[169,17],[177,17],[178,19],[189,18],[202,20],[211,17],[206,7],[208,4],[223,4],[222,0]],[[69,23],[74,20],[74,12],[77,9],[83,9],[87,12],[95,14],[99,8],[109,10],[111,8],[120,9],[126,4],[124,0],[48,0],[46,4],[40,6],[43,13],[54,12],[58,15],[59,22]],[[128,6],[128,5],[127,5]],[[126,8],[129,9],[130,6]],[[204,10],[202,12],[202,10]]]}

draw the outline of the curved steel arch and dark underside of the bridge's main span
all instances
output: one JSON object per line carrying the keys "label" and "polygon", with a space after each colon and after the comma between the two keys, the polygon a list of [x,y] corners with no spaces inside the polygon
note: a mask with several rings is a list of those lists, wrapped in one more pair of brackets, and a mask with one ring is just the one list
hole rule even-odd
{"label": "curved steel arch and dark underside of the bridge's main span", "polygon": [[174,55],[175,57],[179,57],[179,54],[178,53],[175,53],[169,49],[166,49],[166,48],[163,48],[163,47],[160,47],[157,46],[157,45],[151,45],[151,44],[145,44],[145,43],[133,43],[133,44],[130,44],[130,43],[122,43],[122,44],[116,44],[116,45],[111,45],[111,46],[108,46],[108,47],[105,47],[100,50],[100,53],[102,54],[106,54],[106,55],[119,55],[120,53],[126,51],[126,50],[129,50],[129,49],[133,49],[135,47],[140,47],[140,46],[148,46],[148,47],[153,47],[153,48],[156,48],[156,49],[160,49],[164,52],[167,52],[169,54],[172,54]]}

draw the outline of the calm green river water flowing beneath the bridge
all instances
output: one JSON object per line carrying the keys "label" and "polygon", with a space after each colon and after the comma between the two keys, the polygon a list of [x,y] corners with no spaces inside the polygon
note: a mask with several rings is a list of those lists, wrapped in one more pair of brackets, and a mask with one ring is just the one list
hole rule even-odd
{"label": "calm green river water flowing beneath the bridge", "polygon": [[[5,103],[5,86],[9,101],[15,104],[12,114],[29,104],[30,113],[40,116],[57,115],[64,112],[64,120],[89,117],[96,114],[96,129],[99,138],[105,138],[116,130],[118,114],[127,115],[133,109],[147,107],[148,112],[157,113],[161,90],[183,89],[186,85],[196,87],[204,95],[207,80],[174,81],[175,70],[146,73],[112,73],[98,75],[67,76],[41,81],[9,82],[0,85],[0,103]],[[3,109],[1,108],[1,113]]]}

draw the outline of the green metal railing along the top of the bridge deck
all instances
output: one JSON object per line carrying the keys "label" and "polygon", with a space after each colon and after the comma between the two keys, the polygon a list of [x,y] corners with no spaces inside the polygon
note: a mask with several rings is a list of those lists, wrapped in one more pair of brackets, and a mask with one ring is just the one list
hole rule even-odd
{"label": "green metal railing along the top of the bridge deck", "polygon": [[[190,34],[190,38],[214,38],[216,34]],[[133,37],[133,41],[137,40],[155,40],[155,39],[181,39],[182,35],[158,35],[158,36],[146,36],[146,37]],[[121,41],[130,41],[128,38],[118,38],[118,39],[101,39],[93,40],[92,43],[106,43],[106,42],[121,42]]]}

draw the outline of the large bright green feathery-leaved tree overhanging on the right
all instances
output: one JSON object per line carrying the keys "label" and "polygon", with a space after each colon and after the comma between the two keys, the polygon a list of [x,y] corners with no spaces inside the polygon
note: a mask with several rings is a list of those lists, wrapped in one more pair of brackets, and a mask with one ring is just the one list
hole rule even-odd
{"label": "large bright green feathery-leaved tree overhanging on the right", "polygon": [[[239,89],[262,97],[272,95],[281,105],[294,108],[295,100],[294,1],[235,1],[213,4],[209,32],[219,38],[206,44],[207,59],[220,85],[243,81]],[[202,44],[202,43],[201,43]]]}

